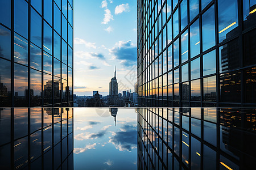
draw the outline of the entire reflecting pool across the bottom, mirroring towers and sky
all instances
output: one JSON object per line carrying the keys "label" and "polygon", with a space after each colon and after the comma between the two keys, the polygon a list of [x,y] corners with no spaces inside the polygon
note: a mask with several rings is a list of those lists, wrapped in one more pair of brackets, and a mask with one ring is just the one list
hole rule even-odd
{"label": "entire reflecting pool across the bottom, mirroring towers and sky", "polygon": [[255,169],[254,108],[0,108],[0,169]]}

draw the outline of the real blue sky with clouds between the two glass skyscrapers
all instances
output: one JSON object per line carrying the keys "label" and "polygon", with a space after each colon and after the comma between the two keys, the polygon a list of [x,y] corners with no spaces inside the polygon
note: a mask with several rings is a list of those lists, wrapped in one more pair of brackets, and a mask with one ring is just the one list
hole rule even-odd
{"label": "real blue sky with clouds between the two glass skyscrapers", "polygon": [[74,94],[109,94],[117,67],[118,91],[137,81],[137,1],[74,1]]}

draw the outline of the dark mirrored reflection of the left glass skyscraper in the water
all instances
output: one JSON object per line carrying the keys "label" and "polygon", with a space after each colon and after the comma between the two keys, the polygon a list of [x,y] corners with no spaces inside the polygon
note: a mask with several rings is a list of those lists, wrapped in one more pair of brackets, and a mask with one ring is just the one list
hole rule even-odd
{"label": "dark mirrored reflection of the left glass skyscraper in the water", "polygon": [[73,108],[1,108],[0,169],[73,169]]}

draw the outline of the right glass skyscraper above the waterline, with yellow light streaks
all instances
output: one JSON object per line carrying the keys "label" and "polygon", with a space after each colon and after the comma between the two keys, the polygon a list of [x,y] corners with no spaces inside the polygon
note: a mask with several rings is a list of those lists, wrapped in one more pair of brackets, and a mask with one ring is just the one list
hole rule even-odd
{"label": "right glass skyscraper above the waterline, with yellow light streaks", "polygon": [[256,2],[138,0],[138,103],[256,104]]}

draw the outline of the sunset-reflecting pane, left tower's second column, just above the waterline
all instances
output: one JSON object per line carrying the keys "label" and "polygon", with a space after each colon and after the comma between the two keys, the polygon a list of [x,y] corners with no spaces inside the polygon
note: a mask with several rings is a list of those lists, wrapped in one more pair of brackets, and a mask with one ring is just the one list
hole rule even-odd
{"label": "sunset-reflecting pane, left tower's second column, just above the waterline", "polygon": [[28,68],[14,63],[14,106],[28,105]]}

